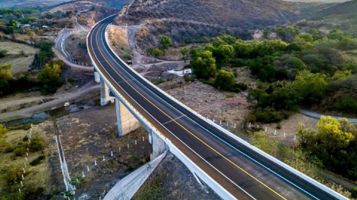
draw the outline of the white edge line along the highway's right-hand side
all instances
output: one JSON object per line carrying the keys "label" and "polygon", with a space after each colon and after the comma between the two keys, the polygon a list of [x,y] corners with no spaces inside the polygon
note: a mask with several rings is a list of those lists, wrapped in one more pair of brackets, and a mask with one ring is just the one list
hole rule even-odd
{"label": "white edge line along the highway's right-hand side", "polygon": [[[101,34],[101,41],[104,44],[103,40],[102,40],[103,34]],[[107,48],[104,48],[108,54],[110,55],[109,51],[107,50]],[[133,79],[135,79],[129,72],[127,72],[122,66],[121,64],[119,64],[117,62],[116,59],[111,59],[114,60],[127,74],[129,74]],[[136,80],[136,79],[135,79]],[[155,94],[150,88],[148,88],[147,86],[143,85],[140,81],[136,80],[140,85],[144,86],[145,88],[147,88],[152,94],[154,94],[156,97],[158,97],[159,99],[163,100],[160,96],[158,96],[157,94]],[[166,100],[163,100],[166,104],[168,104],[169,106],[173,107],[175,110],[177,110],[179,113],[181,113],[182,115],[184,115],[181,111],[179,111],[176,107],[174,107],[173,105],[171,105],[169,102],[167,102]],[[187,110],[189,111],[189,110]],[[252,157],[248,156],[247,154],[245,154],[244,152],[238,150],[237,148],[233,147],[232,145],[228,144],[226,141],[222,140],[220,137],[218,137],[216,134],[212,133],[211,131],[209,131],[208,129],[204,128],[203,126],[201,126],[199,123],[197,123],[196,121],[194,121],[193,119],[191,119],[189,116],[184,115],[185,117],[187,117],[187,119],[191,120],[192,122],[194,122],[195,124],[197,124],[198,126],[200,126],[202,129],[206,130],[207,132],[209,132],[211,135],[215,136],[216,138],[218,138],[219,140],[221,140],[222,142],[224,142],[225,144],[227,144],[228,146],[232,147],[233,149],[237,150],[238,152],[242,153],[243,155],[245,155],[246,157],[248,157],[249,159],[253,160],[254,162],[258,163],[259,165],[263,166],[265,169],[269,170],[270,172],[274,173],[275,175],[279,176],[280,178],[284,179],[285,181],[289,182],[290,184],[292,184],[293,186],[297,187],[298,189],[300,189],[301,191],[303,191],[304,193],[310,195],[311,197],[315,198],[316,200],[319,200],[317,197],[313,196],[312,194],[308,193],[307,191],[305,191],[304,189],[300,188],[299,186],[297,186],[296,184],[294,184],[293,182],[289,181],[288,179],[284,178],[283,176],[279,175],[278,173],[276,173],[275,171],[271,170],[270,168],[266,167],[265,165],[263,165],[262,163],[258,162],[257,160],[253,159]]]}

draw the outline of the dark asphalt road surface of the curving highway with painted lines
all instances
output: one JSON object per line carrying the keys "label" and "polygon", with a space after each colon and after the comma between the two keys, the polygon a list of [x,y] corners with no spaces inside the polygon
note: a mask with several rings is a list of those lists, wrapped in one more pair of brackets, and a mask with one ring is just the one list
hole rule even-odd
{"label": "dark asphalt road surface of the curving highway with painted lines", "polygon": [[336,199],[227,136],[128,69],[105,41],[114,17],[88,35],[94,64],[152,126],[228,192],[237,199]]}

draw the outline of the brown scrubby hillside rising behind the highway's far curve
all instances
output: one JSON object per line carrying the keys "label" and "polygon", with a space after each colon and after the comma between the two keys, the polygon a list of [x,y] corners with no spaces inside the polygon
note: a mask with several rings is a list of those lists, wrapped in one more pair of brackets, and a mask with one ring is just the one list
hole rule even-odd
{"label": "brown scrubby hillside rising behind the highway's far curve", "polygon": [[135,0],[116,23],[145,24],[136,39],[146,49],[157,45],[160,34],[176,45],[205,43],[222,32],[248,40],[251,30],[302,19],[319,6],[282,0]]}

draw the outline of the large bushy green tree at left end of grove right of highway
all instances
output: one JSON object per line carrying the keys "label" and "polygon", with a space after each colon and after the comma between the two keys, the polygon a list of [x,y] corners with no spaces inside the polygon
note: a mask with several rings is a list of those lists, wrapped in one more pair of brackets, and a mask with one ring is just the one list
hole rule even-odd
{"label": "large bushy green tree at left end of grove right of highway", "polygon": [[216,73],[216,60],[209,50],[191,51],[190,66],[193,73],[199,79],[208,79],[214,77]]}

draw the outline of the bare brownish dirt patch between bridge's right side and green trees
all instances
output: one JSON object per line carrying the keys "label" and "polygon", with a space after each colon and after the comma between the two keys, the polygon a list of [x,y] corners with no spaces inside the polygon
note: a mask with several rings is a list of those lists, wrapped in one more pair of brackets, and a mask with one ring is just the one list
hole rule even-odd
{"label": "bare brownish dirt patch between bridge's right side and green trees", "polygon": [[175,79],[158,86],[203,116],[215,118],[216,122],[222,120],[238,125],[243,122],[245,114],[249,111],[249,103],[243,94],[219,91],[199,81],[187,84],[183,79]]}

